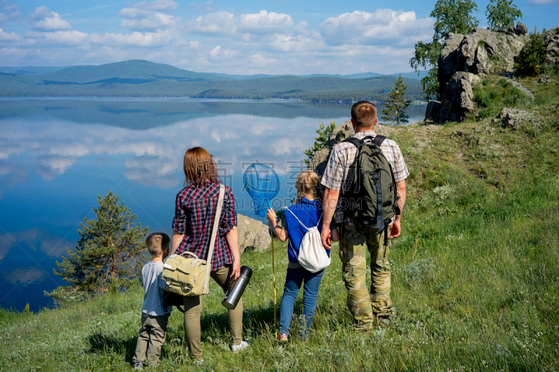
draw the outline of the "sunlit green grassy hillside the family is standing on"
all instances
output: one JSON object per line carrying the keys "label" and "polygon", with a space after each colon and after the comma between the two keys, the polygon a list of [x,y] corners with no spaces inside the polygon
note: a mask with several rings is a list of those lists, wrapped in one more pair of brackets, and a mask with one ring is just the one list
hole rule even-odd
{"label": "sunlit green grassy hillside the family is standing on", "polygon": [[[558,371],[558,80],[522,81],[535,94],[528,109],[538,120],[517,130],[476,116],[395,128],[410,177],[402,237],[390,255],[397,315],[389,329],[351,331],[334,246],[310,343],[278,345],[271,253],[247,252],[242,263],[254,269],[244,297],[251,348],[228,351],[226,310],[212,284],[202,314],[206,363],[189,362],[174,311],[156,370]],[[277,240],[275,258],[279,305],[287,262]],[[130,370],[141,304],[138,288],[37,314],[1,312],[0,369]],[[299,298],[296,315],[301,307]]]}

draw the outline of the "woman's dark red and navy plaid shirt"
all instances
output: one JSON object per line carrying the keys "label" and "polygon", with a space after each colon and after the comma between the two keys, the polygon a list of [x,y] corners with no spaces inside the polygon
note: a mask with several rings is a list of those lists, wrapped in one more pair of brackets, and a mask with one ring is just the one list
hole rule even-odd
{"label": "woman's dark red and navy plaid shirt", "polygon": [[[208,259],[212,227],[219,200],[219,184],[206,182],[202,187],[190,185],[177,193],[173,230],[184,234],[177,254],[192,252],[202,260]],[[231,188],[225,187],[222,216],[212,255],[212,271],[231,264],[231,253],[225,236],[237,225],[237,212]]]}

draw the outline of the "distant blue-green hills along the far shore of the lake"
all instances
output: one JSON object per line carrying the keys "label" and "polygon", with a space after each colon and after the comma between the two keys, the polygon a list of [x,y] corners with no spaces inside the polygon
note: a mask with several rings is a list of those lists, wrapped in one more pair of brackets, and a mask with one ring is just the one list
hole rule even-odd
{"label": "distant blue-green hills along the far shore of the lake", "polygon": [[[101,66],[74,66],[43,75],[0,73],[0,96],[102,96],[384,101],[396,77],[258,75],[238,80],[195,73],[166,64],[131,60]],[[368,75],[367,75],[368,76]],[[405,78],[408,98],[421,98],[418,80]]]}

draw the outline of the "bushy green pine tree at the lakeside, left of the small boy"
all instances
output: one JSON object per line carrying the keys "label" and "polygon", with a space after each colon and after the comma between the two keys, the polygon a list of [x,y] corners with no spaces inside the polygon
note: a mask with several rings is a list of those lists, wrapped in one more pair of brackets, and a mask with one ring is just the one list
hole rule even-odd
{"label": "bushy green pine tree at the lakeside, left of the small boy", "polygon": [[93,207],[97,219],[84,218],[75,250],[66,248],[68,258],[62,257],[53,269],[71,284],[45,292],[59,303],[127,288],[147,261],[143,239],[149,228],[134,225],[137,216],[124,202],[119,205],[112,191],[99,195],[98,202],[99,207]]}

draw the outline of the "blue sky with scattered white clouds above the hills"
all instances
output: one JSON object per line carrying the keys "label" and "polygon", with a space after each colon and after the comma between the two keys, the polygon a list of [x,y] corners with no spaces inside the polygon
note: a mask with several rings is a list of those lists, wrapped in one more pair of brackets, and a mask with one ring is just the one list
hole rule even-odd
{"label": "blue sky with scattered white clouds above the hills", "polygon": [[[479,1],[479,26],[488,1]],[[559,26],[558,0],[515,1],[532,30]],[[1,66],[146,59],[201,72],[412,70],[435,1],[0,1]]]}

